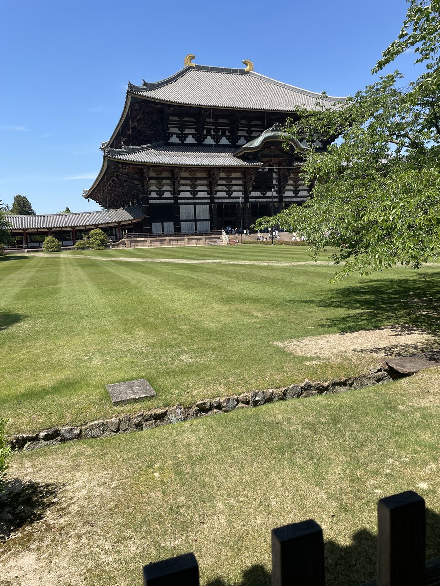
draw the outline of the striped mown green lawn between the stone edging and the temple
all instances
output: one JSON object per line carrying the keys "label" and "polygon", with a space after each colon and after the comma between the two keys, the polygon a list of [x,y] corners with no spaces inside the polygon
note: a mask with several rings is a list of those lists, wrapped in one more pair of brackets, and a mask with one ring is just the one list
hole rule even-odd
{"label": "striped mown green lawn between the stone edging and the temple", "polygon": [[276,341],[395,323],[438,329],[436,267],[329,285],[331,265],[233,264],[307,260],[303,247],[280,246],[2,257],[0,403],[9,431],[111,416],[104,385],[123,380],[146,378],[157,390],[141,408],[365,368],[361,357],[310,364]]}

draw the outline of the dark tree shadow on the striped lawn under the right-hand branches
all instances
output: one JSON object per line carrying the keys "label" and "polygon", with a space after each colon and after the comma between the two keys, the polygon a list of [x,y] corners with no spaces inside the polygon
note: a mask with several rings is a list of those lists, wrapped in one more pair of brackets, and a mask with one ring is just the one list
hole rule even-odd
{"label": "dark tree shadow on the striped lawn under the right-hand branches", "polygon": [[[405,324],[432,334],[440,333],[440,272],[414,272],[405,278],[366,278],[356,285],[334,288],[313,305],[348,310],[323,319],[327,328],[340,332]],[[312,303],[312,301],[310,301]]]}

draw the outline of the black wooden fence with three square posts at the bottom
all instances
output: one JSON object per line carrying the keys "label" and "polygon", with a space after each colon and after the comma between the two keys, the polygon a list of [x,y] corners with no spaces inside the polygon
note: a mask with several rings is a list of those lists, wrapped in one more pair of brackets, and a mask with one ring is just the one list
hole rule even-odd
{"label": "black wooden fence with three square posts at the bottom", "polygon": [[[368,586],[424,586],[425,500],[409,490],[378,501],[377,580]],[[192,553],[143,568],[144,586],[199,586]],[[324,539],[313,519],[272,531],[272,586],[324,586]],[[429,581],[430,584],[437,582]]]}

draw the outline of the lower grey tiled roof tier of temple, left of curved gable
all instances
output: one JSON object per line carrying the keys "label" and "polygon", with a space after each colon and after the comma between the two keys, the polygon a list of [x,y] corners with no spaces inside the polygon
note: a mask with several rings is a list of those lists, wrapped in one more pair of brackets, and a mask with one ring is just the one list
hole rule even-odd
{"label": "lower grey tiled roof tier of temple, left of curved gable", "polygon": [[186,145],[164,145],[154,142],[140,147],[122,149],[104,148],[104,155],[121,161],[156,163],[157,165],[194,165],[215,167],[256,166],[256,161],[242,161],[233,156],[235,149],[228,147],[191,147]]}

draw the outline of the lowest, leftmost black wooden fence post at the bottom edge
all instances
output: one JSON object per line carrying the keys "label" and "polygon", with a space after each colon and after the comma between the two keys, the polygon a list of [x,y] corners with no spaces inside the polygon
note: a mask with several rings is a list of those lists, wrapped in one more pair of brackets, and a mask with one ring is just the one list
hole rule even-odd
{"label": "lowest, leftmost black wooden fence post at the bottom edge", "polygon": [[199,567],[192,553],[144,565],[144,586],[199,586]]}

